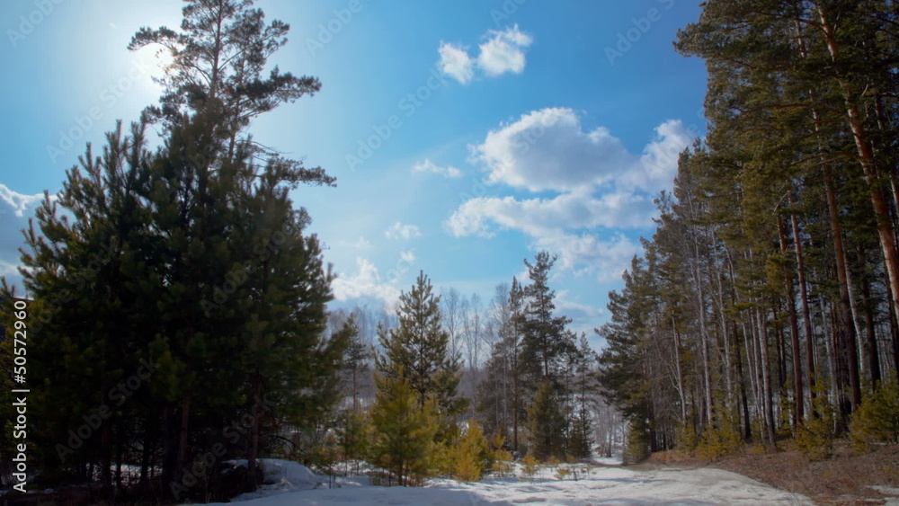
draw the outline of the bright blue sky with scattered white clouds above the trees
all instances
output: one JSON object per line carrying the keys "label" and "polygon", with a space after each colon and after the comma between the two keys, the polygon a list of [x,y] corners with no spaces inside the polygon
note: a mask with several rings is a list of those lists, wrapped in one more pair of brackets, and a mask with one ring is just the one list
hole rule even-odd
{"label": "bright blue sky with scattered white clouds above the trees", "polygon": [[[251,133],[337,178],[291,194],[338,275],[334,306],[393,310],[419,271],[486,306],[546,250],[557,312],[599,344],[654,198],[705,133],[705,67],[672,47],[698,0],[256,5],[290,25],[270,64],[322,83]],[[21,280],[21,230],[86,143],[156,102],[154,51],[126,47],[142,26],[177,27],[181,8],[0,3],[0,275]]]}

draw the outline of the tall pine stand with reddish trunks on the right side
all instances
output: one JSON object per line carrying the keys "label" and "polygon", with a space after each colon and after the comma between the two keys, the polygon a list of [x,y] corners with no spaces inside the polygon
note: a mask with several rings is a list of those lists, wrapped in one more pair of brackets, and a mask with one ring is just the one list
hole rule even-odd
{"label": "tall pine stand with reddish trunks on the right side", "polygon": [[706,61],[708,135],[600,331],[633,457],[899,437],[897,14],[710,0],[678,32]]}

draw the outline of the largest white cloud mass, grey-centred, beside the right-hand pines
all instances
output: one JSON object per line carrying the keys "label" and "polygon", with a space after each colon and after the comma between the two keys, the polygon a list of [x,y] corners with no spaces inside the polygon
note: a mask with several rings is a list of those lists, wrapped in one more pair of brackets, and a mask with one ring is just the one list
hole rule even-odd
{"label": "largest white cloud mass, grey-centred, beside the right-hand pines", "polygon": [[472,198],[444,227],[457,237],[517,231],[531,249],[558,254],[562,268],[618,280],[641,251],[623,232],[653,225],[653,199],[671,188],[678,156],[693,137],[681,121],[666,121],[635,155],[609,129],[583,129],[570,109],[531,111],[470,146],[470,161],[482,164],[488,184],[556,195]]}

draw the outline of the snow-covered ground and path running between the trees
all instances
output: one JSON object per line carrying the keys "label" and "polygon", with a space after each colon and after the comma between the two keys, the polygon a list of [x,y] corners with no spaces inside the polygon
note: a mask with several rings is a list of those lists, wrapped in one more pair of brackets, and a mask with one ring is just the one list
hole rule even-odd
{"label": "snow-covered ground and path running between the trees", "polygon": [[[603,464],[607,464],[603,461]],[[327,477],[304,466],[265,460],[266,482],[255,493],[235,498],[242,506],[294,504],[475,505],[475,504],[813,504],[805,496],[787,493],[743,475],[719,469],[636,471],[621,466],[581,466],[577,481],[555,477],[544,468],[529,480],[485,478],[467,484],[432,480],[420,488],[380,487],[368,478],[338,478],[339,488],[327,488]],[[521,467],[518,468],[521,472]]]}

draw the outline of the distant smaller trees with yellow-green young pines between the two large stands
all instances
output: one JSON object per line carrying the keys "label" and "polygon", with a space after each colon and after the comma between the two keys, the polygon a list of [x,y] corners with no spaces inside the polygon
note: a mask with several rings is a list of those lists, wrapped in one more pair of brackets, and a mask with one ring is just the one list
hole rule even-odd
{"label": "distant smaller trees with yellow-green young pines between the two large stands", "polygon": [[[348,356],[343,369],[353,393],[322,427],[323,461],[346,469],[365,460],[387,469],[384,479],[407,485],[434,475],[476,481],[516,456],[591,457],[593,422],[610,410],[601,409],[586,336],[555,315],[547,285],[554,262],[547,252],[526,261],[530,282],[501,283],[485,309],[455,289],[435,294],[420,272],[400,297],[396,324],[378,322],[377,346],[366,353],[367,338],[355,334],[359,360]],[[359,308],[338,314],[341,321],[371,319]],[[479,367],[481,351],[488,357]],[[368,374],[375,388],[366,400],[356,392]],[[470,387],[462,385],[464,374]],[[327,436],[329,429],[336,433]],[[609,448],[611,437],[602,436]]]}

